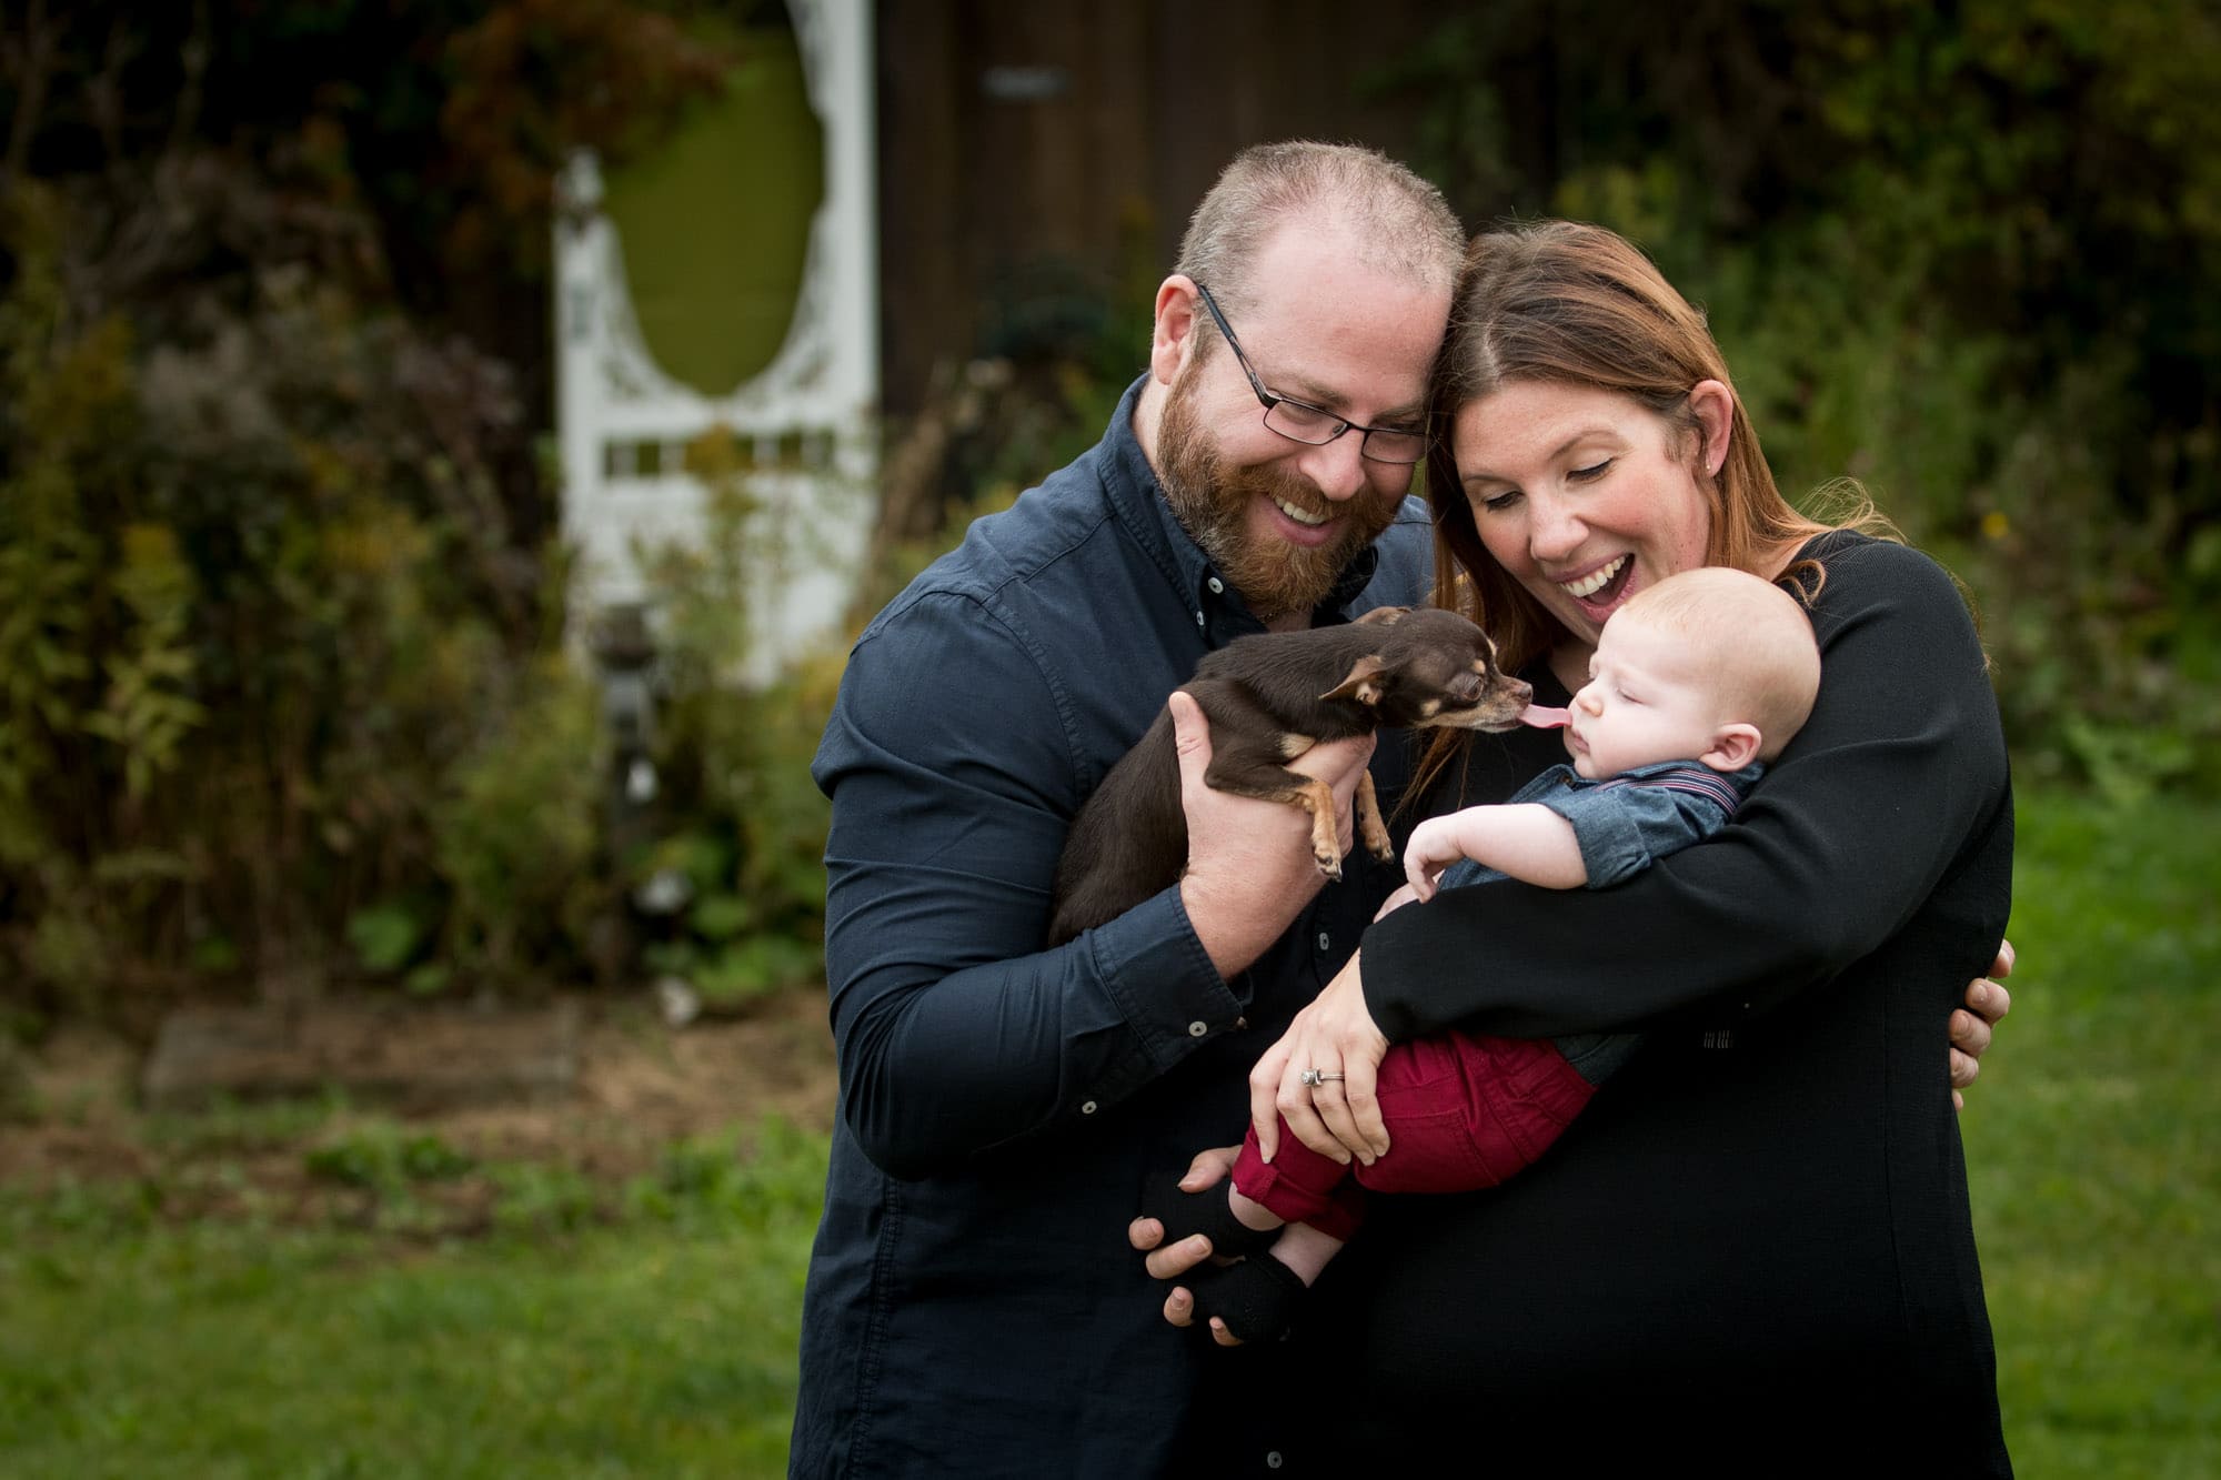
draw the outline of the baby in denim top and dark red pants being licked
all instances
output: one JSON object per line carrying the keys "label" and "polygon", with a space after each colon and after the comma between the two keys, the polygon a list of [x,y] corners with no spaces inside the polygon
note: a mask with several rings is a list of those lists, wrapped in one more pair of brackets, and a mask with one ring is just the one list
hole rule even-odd
{"label": "baby in denim top and dark red pants being licked", "polygon": [[[1386,909],[1504,878],[1546,889],[1626,880],[1719,831],[1803,727],[1817,691],[1812,622],[1788,591],[1726,567],[1661,580],[1604,627],[1564,720],[1572,764],[1499,807],[1421,822],[1404,851],[1410,884]],[[1197,1316],[1233,1336],[1279,1336],[1355,1233],[1359,1187],[1495,1187],[1557,1140],[1635,1044],[1628,1033],[1544,1042],[1455,1031],[1397,1044],[1377,1084],[1393,1144],[1370,1167],[1310,1151],[1286,1122],[1268,1162],[1253,1127],[1228,1191],[1159,1184],[1144,1216],[1164,1222],[1164,1242],[1208,1233],[1222,1256],[1270,1247],[1268,1258],[1204,1267],[1186,1284]]]}

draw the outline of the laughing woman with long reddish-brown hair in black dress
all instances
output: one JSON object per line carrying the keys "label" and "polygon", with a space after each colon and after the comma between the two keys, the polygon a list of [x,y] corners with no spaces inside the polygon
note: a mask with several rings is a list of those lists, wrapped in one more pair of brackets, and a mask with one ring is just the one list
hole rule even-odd
{"label": "laughing woman with long reddish-brown hair in black dress", "polygon": [[[1808,602],[1812,718],[1712,840],[1597,891],[1384,916],[1253,1076],[1321,1151],[1379,1151],[1388,1042],[1639,1029],[1499,1189],[1379,1198],[1313,1291],[1310,1447],[1624,1473],[2010,1473],[1952,1087],[2003,936],[2012,789],[1981,642],[1926,556],[1775,487],[1728,367],[1626,240],[1481,236],[1435,376],[1441,591],[1564,704],[1612,613],[1728,564]],[[1561,760],[1457,736],[1424,811]]]}

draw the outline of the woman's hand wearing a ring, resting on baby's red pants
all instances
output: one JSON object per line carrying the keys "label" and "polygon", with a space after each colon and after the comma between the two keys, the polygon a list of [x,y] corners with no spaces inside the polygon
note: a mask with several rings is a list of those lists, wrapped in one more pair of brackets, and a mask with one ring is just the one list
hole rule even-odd
{"label": "woman's hand wearing a ring, resting on baby's red pants", "polygon": [[[1317,1000],[1250,1069],[1250,1120],[1264,1160],[1279,1151],[1279,1120],[1319,1156],[1370,1167],[1388,1153],[1388,1127],[1373,1093],[1388,1038],[1366,1007],[1364,976],[1350,956]],[[1321,1082],[1306,1084],[1306,1071]]]}

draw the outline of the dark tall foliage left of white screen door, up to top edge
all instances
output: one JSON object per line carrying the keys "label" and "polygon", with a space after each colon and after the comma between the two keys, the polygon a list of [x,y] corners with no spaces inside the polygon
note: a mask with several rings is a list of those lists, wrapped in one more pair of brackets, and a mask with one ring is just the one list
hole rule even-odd
{"label": "dark tall foliage left of white screen door, up to top edge", "polygon": [[626,880],[560,647],[544,411],[482,342],[544,347],[553,164],[646,142],[722,76],[689,9],[9,11],[18,1011],[606,960]]}

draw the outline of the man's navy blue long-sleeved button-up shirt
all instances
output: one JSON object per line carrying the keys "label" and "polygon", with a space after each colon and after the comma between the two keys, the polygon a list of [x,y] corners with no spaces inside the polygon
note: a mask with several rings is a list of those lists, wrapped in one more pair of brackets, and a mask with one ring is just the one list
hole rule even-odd
{"label": "man's navy blue long-sleeved button-up shirt", "polygon": [[[842,1100],[795,1476],[1175,1473],[1268,1360],[1164,1324],[1126,1222],[1148,1173],[1239,1140],[1250,1064],[1399,876],[1357,851],[1230,982],[1177,889],[1042,949],[1079,802],[1206,651],[1262,631],[1173,520],[1137,396],[873,620],[817,751]],[[1315,620],[1410,604],[1430,562],[1406,500]],[[1406,767],[1384,738],[1384,807]]]}

